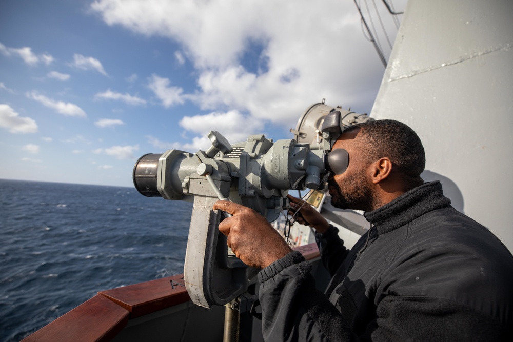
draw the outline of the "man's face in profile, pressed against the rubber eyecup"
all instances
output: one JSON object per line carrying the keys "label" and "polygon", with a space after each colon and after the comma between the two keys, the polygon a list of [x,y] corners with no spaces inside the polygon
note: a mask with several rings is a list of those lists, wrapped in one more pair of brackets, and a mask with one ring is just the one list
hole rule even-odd
{"label": "man's face in profile, pressed against the rubber eyecup", "polygon": [[349,164],[344,173],[328,178],[328,189],[333,207],[371,211],[372,189],[366,177],[368,165],[357,145],[359,133],[360,129],[343,133],[333,145],[333,150],[343,148],[349,153]]}

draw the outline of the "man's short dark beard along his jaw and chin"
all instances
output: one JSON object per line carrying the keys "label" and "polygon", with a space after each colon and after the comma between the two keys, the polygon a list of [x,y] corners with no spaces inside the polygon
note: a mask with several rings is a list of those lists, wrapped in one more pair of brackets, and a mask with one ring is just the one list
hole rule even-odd
{"label": "man's short dark beard along his jaw and chin", "polygon": [[374,210],[372,190],[366,183],[363,173],[347,177],[342,186],[343,189],[333,179],[330,179],[329,185],[337,191],[331,196],[333,207],[363,211]]}

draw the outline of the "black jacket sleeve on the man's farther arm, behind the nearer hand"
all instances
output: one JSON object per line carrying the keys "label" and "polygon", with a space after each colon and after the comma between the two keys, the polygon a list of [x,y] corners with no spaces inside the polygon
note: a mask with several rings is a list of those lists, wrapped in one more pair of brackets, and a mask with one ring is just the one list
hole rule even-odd
{"label": "black jacket sleeve on the man's farther arm, behind the nearer hand", "polygon": [[338,232],[337,227],[329,225],[329,229],[326,232],[315,233],[315,242],[319,247],[322,263],[331,276],[337,272],[349,253]]}

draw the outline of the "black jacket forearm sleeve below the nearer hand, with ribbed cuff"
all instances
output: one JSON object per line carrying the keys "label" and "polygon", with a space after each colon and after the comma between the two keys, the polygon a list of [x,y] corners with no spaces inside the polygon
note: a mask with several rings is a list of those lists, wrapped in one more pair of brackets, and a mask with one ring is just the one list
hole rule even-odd
{"label": "black jacket forearm sleeve below the nearer hand, with ribbed cuff", "polygon": [[352,340],[340,312],[315,288],[311,268],[294,251],[259,273],[264,340]]}

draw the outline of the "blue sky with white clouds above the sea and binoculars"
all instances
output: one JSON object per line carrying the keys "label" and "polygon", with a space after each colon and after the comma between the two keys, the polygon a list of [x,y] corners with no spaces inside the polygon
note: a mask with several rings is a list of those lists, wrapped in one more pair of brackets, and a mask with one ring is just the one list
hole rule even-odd
{"label": "blue sky with white clouds above the sea and binoculars", "polygon": [[[402,15],[356,3],[388,58]],[[0,178],[131,187],[209,131],[291,139],[323,98],[369,113],[385,68],[356,3],[2,0]]]}

